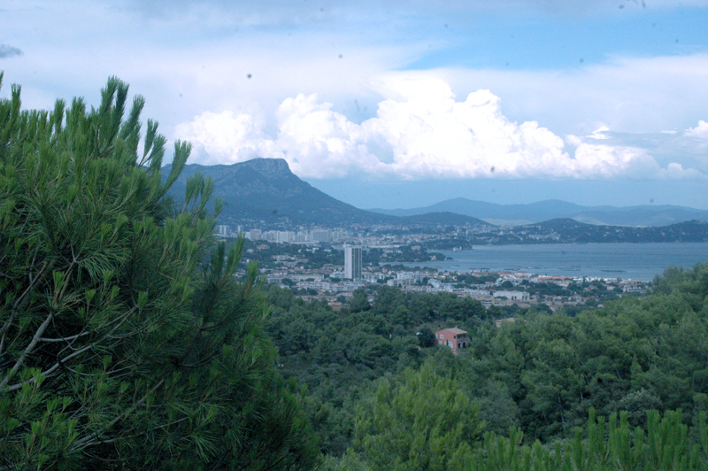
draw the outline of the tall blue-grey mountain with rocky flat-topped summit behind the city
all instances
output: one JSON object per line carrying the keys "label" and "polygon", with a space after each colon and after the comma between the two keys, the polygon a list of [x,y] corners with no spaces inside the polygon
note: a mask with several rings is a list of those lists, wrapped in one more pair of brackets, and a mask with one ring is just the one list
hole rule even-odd
{"label": "tall blue-grey mountain with rocky flat-topped summit behind the city", "polygon": [[[219,214],[222,224],[237,225],[265,221],[268,225],[317,224],[322,226],[407,224],[480,225],[486,224],[466,215],[451,212],[399,218],[369,212],[347,205],[313,188],[290,171],[281,158],[254,158],[230,166],[185,166],[170,193],[184,198],[187,180],[201,172],[214,181],[214,195],[224,200]],[[169,173],[169,166],[163,174]]]}

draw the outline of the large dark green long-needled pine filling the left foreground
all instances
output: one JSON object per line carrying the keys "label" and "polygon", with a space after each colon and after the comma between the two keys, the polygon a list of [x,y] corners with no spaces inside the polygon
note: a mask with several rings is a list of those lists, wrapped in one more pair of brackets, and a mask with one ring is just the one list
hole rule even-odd
{"label": "large dark green long-needled pine filling the left foreground", "polygon": [[117,79],[90,111],[0,100],[0,469],[312,468],[256,266],[212,248],[211,181],[165,197],[189,145],[163,182],[126,102]]}

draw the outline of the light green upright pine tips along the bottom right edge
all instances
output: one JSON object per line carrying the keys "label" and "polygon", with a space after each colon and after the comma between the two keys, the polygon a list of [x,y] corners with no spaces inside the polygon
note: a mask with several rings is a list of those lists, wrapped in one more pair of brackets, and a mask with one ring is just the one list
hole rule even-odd
{"label": "light green upright pine tips along the bottom right edge", "polygon": [[[442,410],[440,412],[443,412]],[[328,457],[325,468],[331,471],[373,471],[374,469],[431,469],[450,471],[702,471],[708,466],[708,425],[702,412],[689,437],[689,427],[681,423],[681,412],[667,412],[662,418],[657,411],[647,413],[646,429],[632,427],[627,413],[612,413],[609,420],[589,412],[585,428],[576,428],[573,438],[543,445],[536,441],[524,444],[524,434],[517,428],[509,436],[484,434],[483,440],[469,447],[437,447],[419,452],[413,443],[406,450],[396,450],[401,438],[410,436],[403,422],[390,429],[391,441],[383,449],[349,449],[342,459]],[[414,420],[418,420],[415,417]],[[459,419],[458,419],[459,421]],[[459,429],[459,427],[458,427]],[[435,429],[433,429],[435,430]],[[419,440],[422,443],[422,440]],[[385,465],[380,467],[384,458]],[[419,459],[432,458],[423,466]],[[404,465],[404,466],[401,466]]]}

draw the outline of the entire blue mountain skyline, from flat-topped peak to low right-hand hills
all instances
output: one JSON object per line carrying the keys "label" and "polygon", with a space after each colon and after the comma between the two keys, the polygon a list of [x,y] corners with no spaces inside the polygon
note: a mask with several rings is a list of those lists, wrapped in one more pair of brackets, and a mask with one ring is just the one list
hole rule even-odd
{"label": "entire blue mountain skyline, from flat-topped peak to low right-hand hills", "polygon": [[[165,166],[164,175],[170,166]],[[222,224],[294,227],[494,226],[493,220],[521,226],[569,219],[594,226],[664,227],[689,220],[708,221],[708,211],[673,205],[582,206],[558,199],[531,204],[497,205],[465,197],[421,208],[359,209],[330,197],[290,171],[281,158],[254,158],[232,165],[185,166],[170,194],[181,200],[189,177],[201,172],[214,181],[214,196],[224,200]]]}

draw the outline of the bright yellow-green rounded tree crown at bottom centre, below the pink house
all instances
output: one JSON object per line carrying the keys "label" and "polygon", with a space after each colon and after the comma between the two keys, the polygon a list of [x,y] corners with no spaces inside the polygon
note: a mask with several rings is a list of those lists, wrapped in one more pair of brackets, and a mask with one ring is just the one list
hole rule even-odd
{"label": "bright yellow-green rounded tree crown at bottom centre, below the pink house", "polygon": [[462,469],[484,422],[479,405],[427,361],[400,383],[382,378],[361,404],[355,449],[372,469]]}

